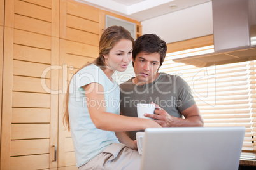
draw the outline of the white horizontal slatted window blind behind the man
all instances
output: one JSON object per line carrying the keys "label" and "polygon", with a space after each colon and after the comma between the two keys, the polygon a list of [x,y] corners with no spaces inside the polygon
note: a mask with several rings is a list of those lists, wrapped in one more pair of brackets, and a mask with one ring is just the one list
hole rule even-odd
{"label": "white horizontal slatted window blind behind the man", "polygon": [[[190,49],[192,54],[197,50],[204,53],[202,48]],[[172,58],[188,56],[190,51],[167,54],[160,72],[180,75],[188,82],[205,126],[245,126],[241,157],[255,159],[256,61],[203,68],[173,62]]]}

